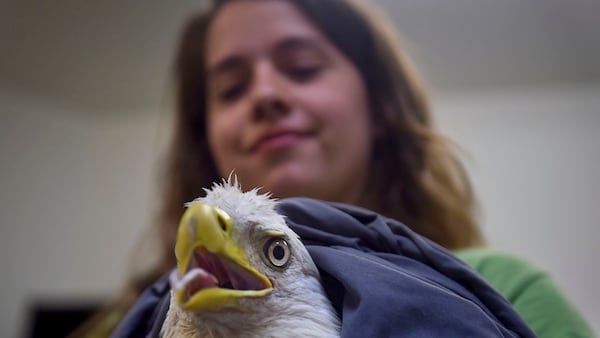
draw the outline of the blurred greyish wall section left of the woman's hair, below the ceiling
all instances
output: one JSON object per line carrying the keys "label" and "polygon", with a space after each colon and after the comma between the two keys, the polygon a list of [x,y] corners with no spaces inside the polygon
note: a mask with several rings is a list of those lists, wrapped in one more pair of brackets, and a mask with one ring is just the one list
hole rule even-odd
{"label": "blurred greyish wall section left of the woman's hair, below the ceiling", "polygon": [[87,114],[0,90],[0,336],[33,301],[99,300],[154,210],[158,116]]}

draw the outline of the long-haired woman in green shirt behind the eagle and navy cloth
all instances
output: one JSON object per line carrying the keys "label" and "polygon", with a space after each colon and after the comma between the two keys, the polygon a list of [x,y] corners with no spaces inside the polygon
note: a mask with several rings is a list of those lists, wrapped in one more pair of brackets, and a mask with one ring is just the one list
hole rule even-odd
{"label": "long-haired woman in green shirt behind the eagle and navy cloth", "polygon": [[234,172],[245,189],[398,219],[471,264],[538,336],[592,336],[545,274],[481,247],[465,172],[380,22],[342,0],[231,0],[188,23],[153,276],[174,266],[184,203]]}

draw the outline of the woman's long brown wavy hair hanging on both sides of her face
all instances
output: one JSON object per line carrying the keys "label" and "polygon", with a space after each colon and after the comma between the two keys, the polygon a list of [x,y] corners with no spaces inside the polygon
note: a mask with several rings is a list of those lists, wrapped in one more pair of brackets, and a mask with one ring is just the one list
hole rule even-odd
{"label": "woman's long brown wavy hair hanging on both sides of her face", "polygon": [[[162,262],[150,278],[137,279],[129,290],[140,292],[149,280],[172,269],[184,204],[222,178],[206,138],[205,45],[212,20],[231,1],[242,0],[213,1],[190,18],[180,35],[174,65],[176,115],[157,218]],[[360,205],[398,219],[448,249],[483,244],[476,200],[456,147],[436,131],[421,82],[391,26],[352,0],[280,1],[300,10],[365,82],[378,133],[370,184]]]}

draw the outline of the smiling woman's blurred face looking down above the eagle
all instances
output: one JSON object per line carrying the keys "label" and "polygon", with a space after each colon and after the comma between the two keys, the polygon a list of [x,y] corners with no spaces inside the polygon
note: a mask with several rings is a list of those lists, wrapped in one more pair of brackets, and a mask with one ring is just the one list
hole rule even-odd
{"label": "smiling woman's blurred face looking down above the eagle", "polygon": [[287,1],[232,1],[207,39],[208,142],[223,177],[357,203],[371,157],[363,80]]}

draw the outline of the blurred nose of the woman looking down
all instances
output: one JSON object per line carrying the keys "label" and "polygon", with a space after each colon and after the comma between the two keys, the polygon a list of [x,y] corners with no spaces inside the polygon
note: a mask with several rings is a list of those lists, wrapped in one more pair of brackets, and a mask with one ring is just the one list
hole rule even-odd
{"label": "blurred nose of the woman looking down", "polygon": [[252,82],[252,118],[273,121],[288,114],[285,79],[270,64],[258,64]]}

